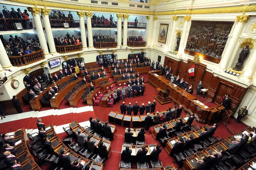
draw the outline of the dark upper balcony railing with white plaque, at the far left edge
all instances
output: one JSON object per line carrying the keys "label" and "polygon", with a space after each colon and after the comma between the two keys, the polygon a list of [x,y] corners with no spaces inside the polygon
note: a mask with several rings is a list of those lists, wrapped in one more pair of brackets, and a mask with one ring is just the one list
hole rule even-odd
{"label": "dark upper balcony railing with white plaque, at the far left edge", "polygon": [[31,19],[0,18],[0,31],[33,29]]}

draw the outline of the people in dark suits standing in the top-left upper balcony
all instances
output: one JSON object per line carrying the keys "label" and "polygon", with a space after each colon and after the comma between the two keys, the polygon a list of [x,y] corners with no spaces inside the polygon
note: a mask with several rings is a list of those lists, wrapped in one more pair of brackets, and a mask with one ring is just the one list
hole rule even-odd
{"label": "people in dark suits standing in the top-left upper balcony", "polygon": [[[17,26],[15,23],[19,22],[22,24],[23,29],[32,29],[32,22],[29,20],[29,14],[27,10],[22,12],[20,8],[17,11],[14,8],[11,8],[11,11],[3,6],[2,12],[0,12],[0,30],[17,30]],[[15,20],[14,20],[15,19]]]}

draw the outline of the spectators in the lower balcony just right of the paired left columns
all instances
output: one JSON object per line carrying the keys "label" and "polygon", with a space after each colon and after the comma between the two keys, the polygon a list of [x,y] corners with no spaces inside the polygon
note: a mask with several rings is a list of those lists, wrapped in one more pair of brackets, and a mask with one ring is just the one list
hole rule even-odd
{"label": "spectators in the lower balcony just right of the paired left columns", "polygon": [[75,37],[74,35],[70,35],[68,32],[65,35],[61,35],[59,38],[56,35],[54,38],[54,44],[55,46],[69,46],[69,45],[79,45],[81,41],[80,37]]}

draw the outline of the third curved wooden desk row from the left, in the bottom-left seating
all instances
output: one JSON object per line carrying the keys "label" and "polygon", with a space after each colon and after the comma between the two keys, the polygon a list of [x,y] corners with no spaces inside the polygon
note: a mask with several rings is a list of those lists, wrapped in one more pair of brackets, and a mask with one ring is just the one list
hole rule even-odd
{"label": "third curved wooden desk row from the left, in the bottom-left seating", "polygon": [[[87,135],[91,135],[92,136],[92,140],[95,141],[94,146],[98,148],[98,144],[100,143],[100,141],[103,142],[103,144],[107,147],[107,152],[108,152],[108,157],[111,153],[111,142],[108,140],[104,140],[102,138],[99,138],[97,136],[94,136],[93,134],[90,134],[90,132],[87,132],[82,126],[79,125],[79,123],[77,121],[74,121],[72,123],[69,124],[71,130],[74,132],[74,134],[77,134],[78,129],[81,130],[81,133],[87,134]],[[87,136],[86,136],[87,138]]]}

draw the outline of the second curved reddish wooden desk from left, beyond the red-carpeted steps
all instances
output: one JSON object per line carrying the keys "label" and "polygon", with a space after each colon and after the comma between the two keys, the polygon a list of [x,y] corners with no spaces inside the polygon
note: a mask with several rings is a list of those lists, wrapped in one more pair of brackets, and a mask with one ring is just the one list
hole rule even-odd
{"label": "second curved reddish wooden desk from left, beyond the red-carpeted steps", "polygon": [[[81,80],[81,78],[78,78],[78,80],[75,80],[74,82],[71,82],[67,86],[65,86],[63,89],[61,89],[60,92],[58,92],[57,95],[54,95],[51,100],[50,104],[52,108],[58,108],[60,106],[61,102],[64,100],[64,96],[70,91],[73,87],[76,87],[76,84]],[[55,98],[54,98],[55,97]]]}

